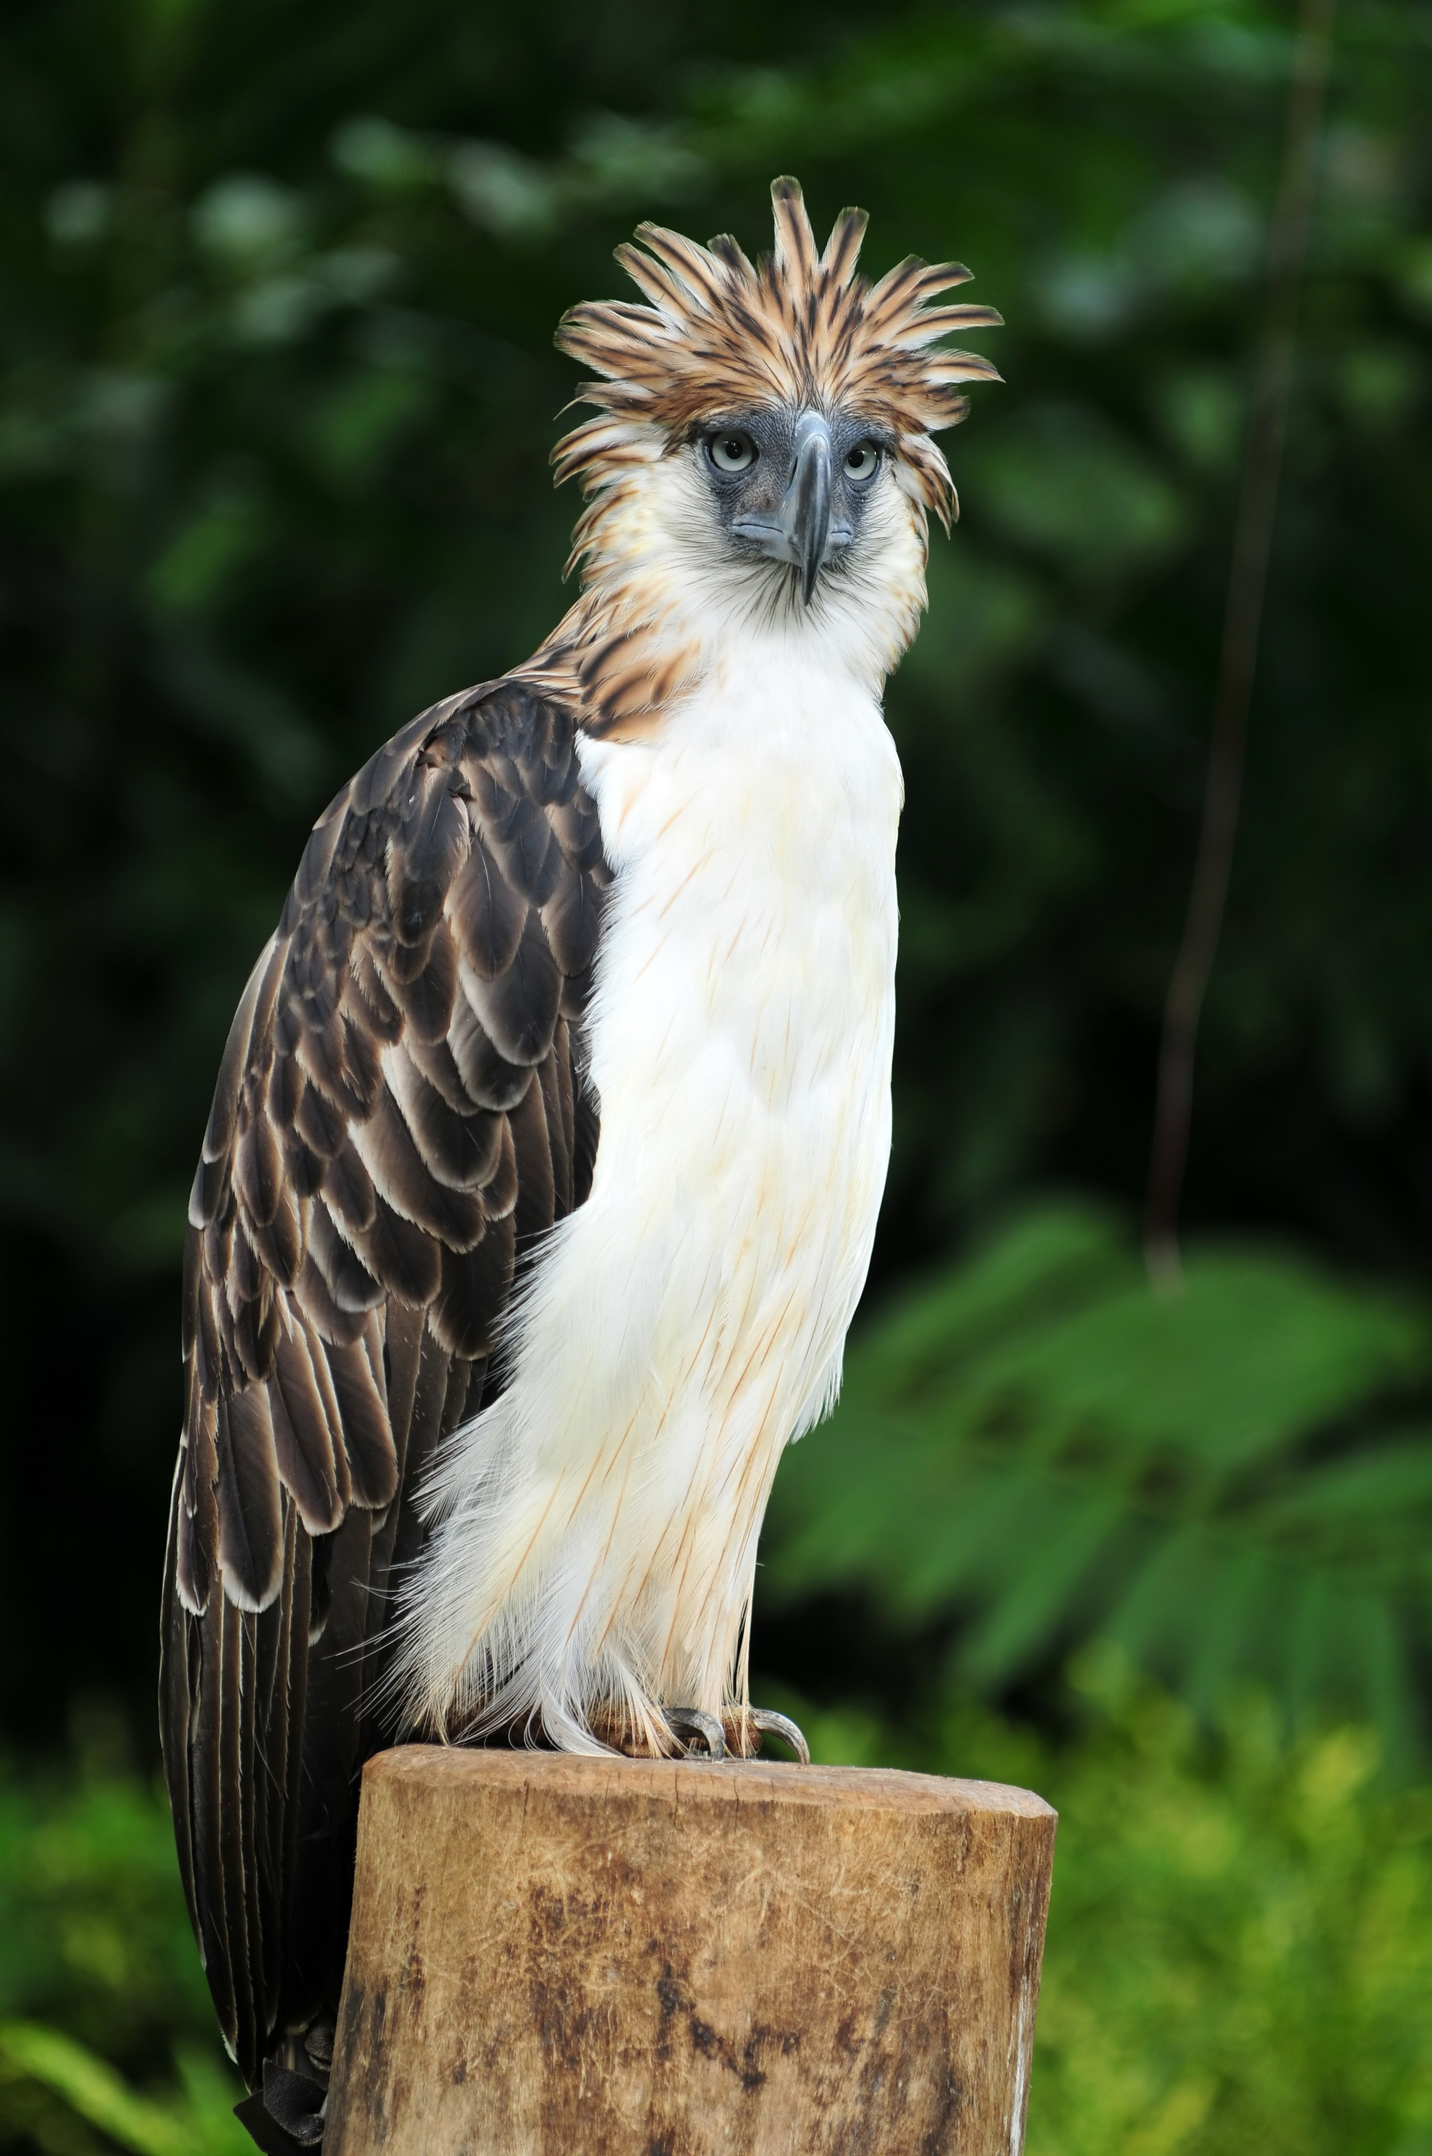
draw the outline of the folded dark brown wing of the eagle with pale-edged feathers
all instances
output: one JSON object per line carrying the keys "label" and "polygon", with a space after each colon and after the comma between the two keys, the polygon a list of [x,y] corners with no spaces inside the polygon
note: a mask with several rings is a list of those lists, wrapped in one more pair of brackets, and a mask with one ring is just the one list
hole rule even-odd
{"label": "folded dark brown wing of the eagle with pale-edged feathers", "polygon": [[414,1488],[492,1395],[513,1268],[591,1186],[610,880],[565,703],[425,711],[317,821],[190,1199],[160,1720],[190,1919],[252,2087],[336,2007],[356,1779]]}

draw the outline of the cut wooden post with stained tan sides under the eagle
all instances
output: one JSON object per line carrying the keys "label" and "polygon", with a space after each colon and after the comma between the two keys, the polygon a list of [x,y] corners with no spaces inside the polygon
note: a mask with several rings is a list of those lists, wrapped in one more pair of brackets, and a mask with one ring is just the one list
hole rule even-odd
{"label": "cut wooden post with stained tan sides under the eagle", "polygon": [[986,1781],[382,1753],[326,2156],[1018,2156],[1052,1852]]}

